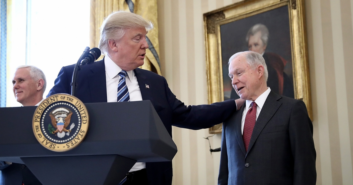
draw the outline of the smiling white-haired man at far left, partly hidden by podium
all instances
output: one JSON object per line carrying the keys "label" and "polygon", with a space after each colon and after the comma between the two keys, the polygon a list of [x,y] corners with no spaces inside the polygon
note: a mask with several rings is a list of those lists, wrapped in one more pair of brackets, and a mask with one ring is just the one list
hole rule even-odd
{"label": "smiling white-haired man at far left, partly hidden by podium", "polygon": [[[47,81],[35,66],[19,66],[12,79],[13,94],[23,106],[37,106],[43,99]],[[42,185],[24,164],[0,161],[0,185]]]}

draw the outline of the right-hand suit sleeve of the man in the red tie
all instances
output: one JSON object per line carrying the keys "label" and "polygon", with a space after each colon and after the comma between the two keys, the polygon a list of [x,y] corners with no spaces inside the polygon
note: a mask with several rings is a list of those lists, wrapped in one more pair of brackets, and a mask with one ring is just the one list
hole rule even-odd
{"label": "right-hand suit sleeve of the man in the red tie", "polygon": [[294,158],[293,185],[316,184],[316,151],[313,126],[303,101],[294,104],[289,119],[289,137]]}

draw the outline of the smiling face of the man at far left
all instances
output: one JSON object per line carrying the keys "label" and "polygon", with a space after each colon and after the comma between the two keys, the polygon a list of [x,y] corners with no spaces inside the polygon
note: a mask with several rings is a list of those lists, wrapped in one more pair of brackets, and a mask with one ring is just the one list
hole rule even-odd
{"label": "smiling face of the man at far left", "polygon": [[38,91],[42,89],[42,86],[32,79],[28,68],[17,69],[13,76],[12,84],[13,94],[22,105],[25,105],[26,102],[31,102]]}

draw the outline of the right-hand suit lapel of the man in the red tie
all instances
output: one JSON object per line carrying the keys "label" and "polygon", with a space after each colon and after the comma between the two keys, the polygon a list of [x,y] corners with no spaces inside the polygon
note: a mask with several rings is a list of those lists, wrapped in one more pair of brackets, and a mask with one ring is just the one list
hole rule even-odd
{"label": "right-hand suit lapel of the man in the red tie", "polygon": [[260,135],[262,129],[265,125],[270,121],[271,117],[276,113],[278,108],[281,106],[279,99],[282,97],[274,92],[270,92],[268,95],[261,112],[256,120],[255,127],[252,131],[251,139],[249,142],[249,148],[247,149],[247,153],[251,150],[252,146],[254,145],[257,137]]}

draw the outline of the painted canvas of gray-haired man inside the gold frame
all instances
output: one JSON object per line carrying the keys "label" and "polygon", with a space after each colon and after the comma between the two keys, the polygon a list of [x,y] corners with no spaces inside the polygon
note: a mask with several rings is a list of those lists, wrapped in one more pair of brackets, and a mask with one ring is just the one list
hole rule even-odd
{"label": "painted canvas of gray-haired man inside the gold frame", "polygon": [[228,80],[227,58],[246,50],[264,57],[268,87],[294,98],[288,6],[221,25],[221,46],[225,100],[239,97]]}

